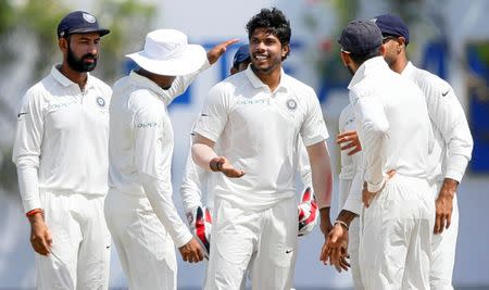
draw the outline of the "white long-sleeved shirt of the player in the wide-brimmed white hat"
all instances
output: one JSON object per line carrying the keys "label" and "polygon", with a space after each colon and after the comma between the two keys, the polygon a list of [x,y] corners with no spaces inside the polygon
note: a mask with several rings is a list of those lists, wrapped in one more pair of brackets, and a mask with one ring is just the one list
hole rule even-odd
{"label": "white long-sleeved shirt of the player in the wide-brimmed white hat", "polygon": [[[209,66],[206,62],[201,71]],[[131,72],[115,83],[110,106],[109,186],[147,197],[177,248],[192,236],[172,200],[174,135],[166,106],[199,72],[177,77],[168,90]]]}

